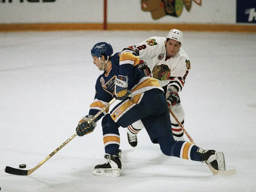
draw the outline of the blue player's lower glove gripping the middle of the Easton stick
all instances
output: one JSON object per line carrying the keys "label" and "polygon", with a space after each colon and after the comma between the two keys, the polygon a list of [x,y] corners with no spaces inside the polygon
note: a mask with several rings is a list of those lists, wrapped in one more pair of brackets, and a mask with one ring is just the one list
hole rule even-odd
{"label": "blue player's lower glove gripping the middle of the Easton stick", "polygon": [[93,132],[93,130],[95,129],[96,125],[97,125],[97,118],[92,121],[91,124],[88,124],[87,122],[92,118],[92,115],[87,115],[85,117],[83,117],[77,127],[76,127],[76,134],[81,137],[81,136],[84,136],[86,134],[89,134],[91,132]]}

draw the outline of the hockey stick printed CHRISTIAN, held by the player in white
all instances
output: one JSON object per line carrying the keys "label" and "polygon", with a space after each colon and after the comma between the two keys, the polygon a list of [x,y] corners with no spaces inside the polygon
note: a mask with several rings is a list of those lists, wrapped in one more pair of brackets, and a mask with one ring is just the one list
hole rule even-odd
{"label": "hockey stick printed CHRISTIAN, held by the player in white", "polygon": [[[180,128],[182,129],[182,131],[186,134],[186,136],[188,137],[188,139],[190,140],[191,143],[193,143],[194,145],[196,145],[196,143],[194,142],[194,140],[190,137],[190,135],[188,134],[188,132],[186,131],[186,129],[183,127],[183,125],[180,123],[180,121],[177,119],[177,117],[174,115],[174,113],[172,112],[172,109],[169,107],[169,112],[172,114],[173,118],[176,120],[177,124],[179,124]],[[230,170],[225,170],[225,171],[220,171],[220,170],[216,170],[214,169],[211,165],[206,164],[210,170],[212,171],[212,173],[214,175],[222,175],[222,176],[230,176],[230,175],[234,175],[236,174],[236,169],[230,169]]]}

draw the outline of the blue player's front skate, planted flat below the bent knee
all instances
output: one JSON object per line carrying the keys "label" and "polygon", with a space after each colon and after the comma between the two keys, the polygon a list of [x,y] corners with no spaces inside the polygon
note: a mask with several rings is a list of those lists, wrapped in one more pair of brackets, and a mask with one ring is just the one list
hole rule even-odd
{"label": "blue player's front skate, planted flat below the bent knee", "polygon": [[97,176],[118,177],[122,168],[121,153],[122,150],[118,149],[116,155],[105,154],[104,158],[107,159],[108,162],[96,165],[92,174]]}

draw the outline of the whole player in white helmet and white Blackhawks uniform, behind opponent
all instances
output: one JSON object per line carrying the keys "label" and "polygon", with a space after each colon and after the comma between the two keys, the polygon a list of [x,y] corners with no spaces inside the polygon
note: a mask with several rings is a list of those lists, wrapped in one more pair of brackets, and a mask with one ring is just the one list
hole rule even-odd
{"label": "whole player in white helmet and white Blackhawks uniform, behind opponent", "polygon": [[[181,48],[183,34],[172,29],[167,37],[153,36],[134,46],[125,47],[123,52],[132,52],[140,56],[138,67],[145,76],[156,78],[164,89],[168,106],[184,126],[184,109],[180,104],[179,93],[183,89],[190,69],[190,61]],[[170,114],[172,132],[175,140],[184,140],[183,131]],[[137,133],[144,128],[139,120],[127,127],[128,141],[132,147],[137,146]]]}

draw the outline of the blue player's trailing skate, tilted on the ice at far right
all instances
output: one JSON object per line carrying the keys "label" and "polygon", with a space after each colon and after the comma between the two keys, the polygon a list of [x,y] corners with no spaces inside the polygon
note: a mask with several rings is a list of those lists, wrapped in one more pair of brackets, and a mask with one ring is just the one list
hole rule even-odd
{"label": "blue player's trailing skate, tilted on the ice at far right", "polygon": [[[203,163],[205,162],[211,170],[212,168],[217,170],[217,172],[218,170],[220,171],[226,170],[225,158],[222,152],[215,151],[215,150],[204,150],[201,148],[198,148],[196,152],[202,155]],[[212,172],[214,174],[217,173],[217,172],[214,172],[214,170],[212,170]]]}

